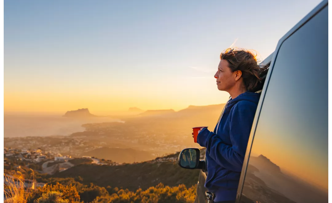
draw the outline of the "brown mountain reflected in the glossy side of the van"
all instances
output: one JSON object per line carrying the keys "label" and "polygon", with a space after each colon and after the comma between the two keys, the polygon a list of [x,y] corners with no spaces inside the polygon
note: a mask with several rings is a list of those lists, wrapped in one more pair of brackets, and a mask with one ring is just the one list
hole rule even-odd
{"label": "brown mountain reflected in the glossy side of the van", "polygon": [[278,165],[262,154],[250,157],[243,191],[261,202],[274,202],[274,199],[278,202],[310,203],[326,202],[328,198],[326,190],[307,182],[305,177],[283,173]]}

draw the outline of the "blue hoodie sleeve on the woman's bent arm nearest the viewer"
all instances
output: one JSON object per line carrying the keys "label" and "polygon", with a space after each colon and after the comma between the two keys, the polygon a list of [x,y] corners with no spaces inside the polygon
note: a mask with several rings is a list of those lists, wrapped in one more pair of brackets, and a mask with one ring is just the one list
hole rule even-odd
{"label": "blue hoodie sleeve on the woman's bent arm nearest the viewer", "polygon": [[232,146],[226,145],[215,133],[206,128],[197,136],[197,142],[207,148],[210,157],[229,170],[241,171],[251,126],[257,105],[239,101],[229,114],[229,134]]}

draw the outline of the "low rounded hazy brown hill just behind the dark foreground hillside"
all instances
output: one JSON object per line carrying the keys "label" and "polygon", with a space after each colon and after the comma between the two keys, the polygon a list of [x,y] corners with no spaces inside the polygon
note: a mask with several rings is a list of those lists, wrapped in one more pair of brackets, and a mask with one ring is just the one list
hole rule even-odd
{"label": "low rounded hazy brown hill just behind the dark foreground hillside", "polygon": [[84,152],[80,155],[104,158],[118,163],[133,163],[134,161],[141,162],[155,158],[155,156],[153,156],[151,153],[145,151],[134,150],[131,148],[121,149],[108,147],[94,149],[89,152]]}

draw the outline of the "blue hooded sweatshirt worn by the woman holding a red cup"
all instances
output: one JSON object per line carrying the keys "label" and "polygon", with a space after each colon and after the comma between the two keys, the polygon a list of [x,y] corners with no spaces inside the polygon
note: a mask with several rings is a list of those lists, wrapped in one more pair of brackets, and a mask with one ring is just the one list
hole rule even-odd
{"label": "blue hooded sweatshirt worn by the woman holding a red cup", "polygon": [[244,155],[260,94],[245,92],[226,103],[213,132],[204,128],[197,143],[206,147],[205,187],[215,193],[214,201],[232,201],[240,180]]}

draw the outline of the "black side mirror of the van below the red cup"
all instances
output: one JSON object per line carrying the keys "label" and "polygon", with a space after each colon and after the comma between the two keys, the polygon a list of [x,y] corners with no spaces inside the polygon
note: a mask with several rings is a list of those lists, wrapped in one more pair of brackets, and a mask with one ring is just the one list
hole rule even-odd
{"label": "black side mirror of the van below the red cup", "polygon": [[180,152],[178,164],[186,169],[202,169],[204,162],[200,161],[200,150],[197,148],[187,148]]}

